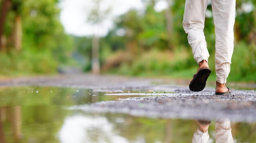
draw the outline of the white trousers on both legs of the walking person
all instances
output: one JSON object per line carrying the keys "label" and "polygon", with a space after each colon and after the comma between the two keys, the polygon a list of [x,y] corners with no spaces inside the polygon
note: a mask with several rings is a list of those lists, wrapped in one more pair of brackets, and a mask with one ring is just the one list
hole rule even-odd
{"label": "white trousers on both legs of the walking person", "polygon": [[[204,37],[204,19],[208,0],[186,0],[183,27],[195,61],[206,60],[209,53]],[[230,72],[234,49],[234,22],[236,0],[211,0],[216,34],[215,69],[216,81],[224,84]]]}

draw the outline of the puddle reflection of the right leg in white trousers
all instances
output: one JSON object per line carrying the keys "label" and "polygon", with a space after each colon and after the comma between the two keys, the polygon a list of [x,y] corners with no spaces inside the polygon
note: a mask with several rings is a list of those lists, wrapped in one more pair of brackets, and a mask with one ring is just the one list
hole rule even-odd
{"label": "puddle reflection of the right leg in white trousers", "polygon": [[216,119],[216,143],[234,143],[229,119]]}

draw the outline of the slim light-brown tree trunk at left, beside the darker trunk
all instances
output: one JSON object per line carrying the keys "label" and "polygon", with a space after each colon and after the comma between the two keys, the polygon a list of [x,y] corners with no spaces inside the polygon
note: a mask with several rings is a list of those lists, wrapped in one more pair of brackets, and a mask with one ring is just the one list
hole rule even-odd
{"label": "slim light-brown tree trunk at left, beside the darker trunk", "polygon": [[14,43],[16,50],[20,51],[22,48],[22,23],[20,16],[15,18]]}

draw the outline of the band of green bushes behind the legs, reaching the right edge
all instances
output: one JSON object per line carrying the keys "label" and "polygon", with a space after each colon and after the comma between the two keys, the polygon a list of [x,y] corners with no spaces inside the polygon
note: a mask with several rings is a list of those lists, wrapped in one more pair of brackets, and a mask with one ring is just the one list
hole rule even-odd
{"label": "band of green bushes behind the legs, reaching the right edge", "polygon": [[[211,80],[215,80],[215,50],[209,57],[212,69]],[[175,52],[150,50],[134,58],[131,64],[122,63],[111,72],[132,76],[172,76],[175,78],[191,78],[197,63],[193,59],[191,49],[177,48]],[[228,81],[256,81],[256,45],[244,42],[237,43],[232,56],[231,72]]]}

